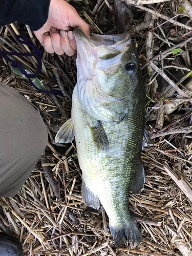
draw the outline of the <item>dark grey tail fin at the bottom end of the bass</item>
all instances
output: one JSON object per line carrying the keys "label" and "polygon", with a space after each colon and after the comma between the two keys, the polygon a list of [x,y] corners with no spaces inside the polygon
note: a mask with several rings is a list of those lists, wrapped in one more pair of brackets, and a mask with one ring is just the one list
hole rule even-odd
{"label": "dark grey tail fin at the bottom end of the bass", "polygon": [[142,242],[141,232],[138,229],[134,216],[131,214],[126,224],[118,228],[115,228],[110,224],[110,230],[117,250],[126,242],[132,244],[139,244]]}

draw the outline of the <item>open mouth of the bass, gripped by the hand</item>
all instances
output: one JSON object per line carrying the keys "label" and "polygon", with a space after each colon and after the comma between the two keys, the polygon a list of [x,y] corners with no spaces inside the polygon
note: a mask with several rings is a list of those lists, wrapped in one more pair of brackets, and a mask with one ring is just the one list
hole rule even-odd
{"label": "open mouth of the bass, gripped by the hand", "polygon": [[91,33],[90,38],[84,34],[80,28],[73,30],[76,40],[77,49],[94,50],[101,59],[110,59],[114,56],[125,52],[131,45],[131,33],[116,35],[98,35]]}

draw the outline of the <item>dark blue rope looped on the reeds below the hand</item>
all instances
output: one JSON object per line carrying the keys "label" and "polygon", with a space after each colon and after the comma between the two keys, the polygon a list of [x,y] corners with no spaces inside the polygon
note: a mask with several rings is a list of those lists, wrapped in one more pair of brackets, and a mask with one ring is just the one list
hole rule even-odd
{"label": "dark blue rope looped on the reeds below the hand", "polygon": [[[20,40],[20,38],[23,40]],[[31,78],[37,77],[42,69],[42,62],[41,62],[42,46],[40,47],[40,49],[38,49],[36,46],[33,45],[32,41],[30,39],[28,39],[27,37],[25,37],[23,35],[17,35],[16,40],[17,40],[17,42],[20,42],[20,44],[30,46],[33,49],[33,52],[32,53],[3,52],[0,49],[0,55],[2,55],[2,57],[4,57],[7,61],[11,62],[12,67],[14,67],[14,68],[17,67],[19,69],[19,71],[29,79],[30,83],[37,91],[39,91],[41,93],[57,94],[57,95],[60,95],[63,97],[63,94],[61,91],[59,91],[59,90],[54,90],[54,91],[41,90],[38,87],[36,87],[35,84],[33,83],[33,81],[31,80]],[[16,56],[34,56],[34,55],[36,55],[37,60],[38,60],[38,69],[34,74],[28,74],[25,71],[25,69],[23,68],[23,65],[21,62],[19,62],[17,60],[12,60],[7,55],[16,55]]]}

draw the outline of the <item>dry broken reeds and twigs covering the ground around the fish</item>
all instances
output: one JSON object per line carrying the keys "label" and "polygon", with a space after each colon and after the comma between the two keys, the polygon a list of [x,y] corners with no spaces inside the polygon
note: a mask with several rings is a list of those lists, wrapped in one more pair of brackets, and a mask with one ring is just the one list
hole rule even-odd
{"label": "dry broken reeds and twigs covering the ground around the fish", "polygon": [[[94,15],[91,13],[94,5],[89,0],[73,2],[73,5],[90,24],[92,32],[118,33],[114,14],[109,10],[113,6],[108,1],[98,3]],[[131,194],[129,199],[131,211],[143,236],[139,246],[127,245],[119,251],[115,249],[104,210],[88,208],[81,200],[81,170],[75,144],[57,145],[53,141],[58,127],[66,120],[64,116],[70,117],[70,97],[57,96],[55,99],[48,94],[38,93],[27,80],[15,75],[6,61],[0,60],[0,81],[28,100],[35,101],[46,117],[49,130],[46,152],[23,188],[14,198],[0,199],[0,227],[20,239],[24,255],[192,255],[192,39],[191,32],[188,33],[189,29],[192,30],[191,20],[184,12],[177,19],[172,19],[176,20],[175,25],[167,22],[159,26],[165,22],[161,15],[177,15],[179,6],[174,1],[168,1],[145,7],[153,9],[155,13],[147,28],[140,26],[140,30],[136,28],[133,33],[150,97],[146,99],[146,128],[152,135],[151,143],[141,156],[146,174],[144,190],[139,195]],[[132,29],[133,25],[137,27],[144,20],[144,11],[140,7],[132,6],[131,11],[134,17],[127,20],[127,29]],[[161,15],[157,16],[158,13]],[[180,25],[182,23],[187,29]],[[29,36],[29,28],[27,31],[25,26],[15,25],[21,34]],[[23,51],[14,40],[17,31],[12,28],[1,28],[1,39],[3,37],[12,47]],[[179,55],[170,51],[171,47],[177,49],[178,46],[182,49]],[[3,40],[0,40],[0,47],[14,51]],[[153,62],[147,62],[146,67],[146,60],[142,56],[147,59],[154,57]],[[36,69],[35,58],[19,58],[32,71]],[[55,56],[68,75],[71,86],[65,74],[55,69],[56,62],[50,54],[44,51],[42,59],[44,66],[39,79],[51,89],[55,88],[59,82],[54,77],[53,71],[56,70],[60,82],[71,95],[76,82],[75,56]],[[170,91],[179,86],[171,97],[168,98],[161,88],[166,82],[157,77],[154,69],[171,83]],[[186,100],[181,95],[186,95]],[[48,175],[49,170],[54,178]]]}

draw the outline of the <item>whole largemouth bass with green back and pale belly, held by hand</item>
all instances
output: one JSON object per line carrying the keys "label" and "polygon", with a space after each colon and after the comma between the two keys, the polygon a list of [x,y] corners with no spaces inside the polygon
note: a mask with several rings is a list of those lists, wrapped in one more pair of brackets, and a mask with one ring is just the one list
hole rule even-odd
{"label": "whole largemouth bass with green back and pale belly, held by hand", "polygon": [[82,199],[103,205],[118,249],[139,243],[141,233],[128,204],[129,193],[144,184],[141,150],[144,134],[145,89],[136,48],[129,32],[89,39],[75,28],[77,84],[71,119],[55,141],[76,141],[82,169]]}

